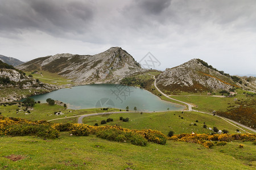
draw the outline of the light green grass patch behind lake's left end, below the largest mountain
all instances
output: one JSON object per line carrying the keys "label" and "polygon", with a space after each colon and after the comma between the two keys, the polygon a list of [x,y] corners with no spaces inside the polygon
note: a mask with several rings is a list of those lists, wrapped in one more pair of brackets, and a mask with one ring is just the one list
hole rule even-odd
{"label": "light green grass patch behind lake's left end, below the largest mountain", "polygon": [[[57,86],[74,84],[72,82],[72,79],[67,79],[64,76],[58,75],[56,73],[49,73],[48,71],[39,71],[39,72],[41,72],[43,76],[40,74],[32,74],[32,75],[33,75],[33,78],[39,79],[40,82],[54,84]],[[25,73],[26,75],[31,74],[31,72],[25,72]]]}

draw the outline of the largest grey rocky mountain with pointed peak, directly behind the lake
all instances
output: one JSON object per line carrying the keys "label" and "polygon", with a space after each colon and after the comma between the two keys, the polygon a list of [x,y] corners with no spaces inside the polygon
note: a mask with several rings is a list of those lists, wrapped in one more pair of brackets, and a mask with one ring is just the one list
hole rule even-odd
{"label": "largest grey rocky mountain with pointed peak, directly behind the lake", "polygon": [[77,83],[115,83],[143,69],[134,58],[119,47],[90,55],[56,54],[33,59],[17,67],[24,71],[49,71]]}

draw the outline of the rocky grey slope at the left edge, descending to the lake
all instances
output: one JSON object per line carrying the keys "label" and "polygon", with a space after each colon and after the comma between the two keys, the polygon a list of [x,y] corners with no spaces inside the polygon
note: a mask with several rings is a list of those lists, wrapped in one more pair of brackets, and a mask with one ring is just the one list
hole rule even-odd
{"label": "rocky grey slope at the left edge, descending to the lake", "polygon": [[[10,90],[9,90],[10,89]],[[22,71],[0,61],[0,102],[19,100],[30,95],[42,94],[57,87],[26,76]]]}

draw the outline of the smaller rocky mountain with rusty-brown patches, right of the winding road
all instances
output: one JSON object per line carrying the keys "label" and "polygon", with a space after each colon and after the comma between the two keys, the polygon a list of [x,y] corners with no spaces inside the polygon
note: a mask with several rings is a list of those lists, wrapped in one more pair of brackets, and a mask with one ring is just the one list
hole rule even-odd
{"label": "smaller rocky mountain with rusty-brown patches, right of the winding road", "polygon": [[[180,66],[166,69],[159,74],[156,83],[163,90],[200,92],[209,90],[229,90],[244,87],[246,80],[218,71],[201,59],[191,59]],[[254,80],[251,80],[254,82]],[[252,90],[252,86],[249,90]]]}

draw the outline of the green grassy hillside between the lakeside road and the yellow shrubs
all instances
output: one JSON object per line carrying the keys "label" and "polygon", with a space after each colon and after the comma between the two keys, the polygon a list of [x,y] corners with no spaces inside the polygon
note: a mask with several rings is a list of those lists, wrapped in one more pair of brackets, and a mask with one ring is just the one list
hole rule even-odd
{"label": "green grassy hillside between the lakeside road and the yellow shrubs", "polygon": [[[123,122],[119,120],[119,117],[128,117],[129,122]],[[179,117],[180,116],[180,117]],[[181,118],[183,117],[183,118]],[[118,113],[118,114],[107,114],[103,116],[90,116],[84,118],[84,124],[94,125],[97,123],[101,124],[102,120],[107,118],[113,118],[113,122],[109,122],[108,125],[119,125],[123,128],[129,129],[154,129],[162,131],[164,134],[168,134],[170,130],[174,131],[175,134],[180,133],[210,133],[209,129],[203,128],[205,125],[209,128],[216,126],[219,130],[228,130],[229,133],[236,133],[236,127],[222,120],[219,117],[212,116],[209,114],[198,113],[198,112],[165,112],[165,113]],[[196,122],[196,120],[198,122]],[[55,122],[61,122],[55,121]],[[196,124],[197,126],[195,126]],[[244,131],[240,130],[242,133]],[[253,133],[253,132],[251,132]]]}

